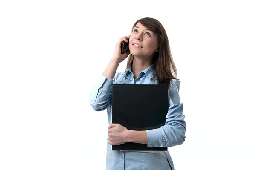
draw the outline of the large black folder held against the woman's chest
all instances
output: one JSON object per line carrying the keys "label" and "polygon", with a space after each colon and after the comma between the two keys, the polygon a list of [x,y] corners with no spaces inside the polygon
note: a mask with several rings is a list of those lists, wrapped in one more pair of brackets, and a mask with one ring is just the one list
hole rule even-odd
{"label": "large black folder held against the woman's chest", "polygon": [[[151,130],[165,125],[168,112],[168,85],[113,84],[112,123],[128,130]],[[112,150],[165,151],[167,147],[148,147],[126,142]]]}

